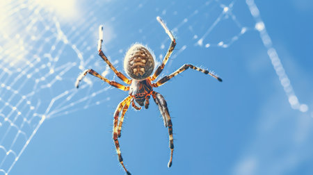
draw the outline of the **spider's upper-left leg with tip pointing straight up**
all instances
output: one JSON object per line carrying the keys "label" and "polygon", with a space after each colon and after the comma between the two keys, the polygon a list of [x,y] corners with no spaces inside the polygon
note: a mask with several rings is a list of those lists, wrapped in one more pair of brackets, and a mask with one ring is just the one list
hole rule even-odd
{"label": "spider's upper-left leg with tip pointing straight up", "polygon": [[127,78],[124,74],[121,72],[118,72],[118,70],[115,69],[115,67],[112,65],[112,63],[109,61],[108,58],[106,58],[106,55],[104,55],[102,51],[102,42],[103,42],[103,26],[99,26],[99,42],[98,42],[98,51],[99,56],[106,62],[106,64],[109,65],[109,67],[113,70],[113,72],[120,78],[122,81],[124,81],[127,84],[131,83],[131,80]]}

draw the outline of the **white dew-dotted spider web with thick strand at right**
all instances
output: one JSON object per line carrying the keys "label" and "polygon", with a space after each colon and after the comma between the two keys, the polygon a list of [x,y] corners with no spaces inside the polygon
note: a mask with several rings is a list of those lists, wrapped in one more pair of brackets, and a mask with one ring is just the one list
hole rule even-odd
{"label": "white dew-dotted spider web with thick strand at right", "polygon": [[[239,1],[209,0],[197,1],[192,5],[188,2],[156,3],[152,15],[140,19],[147,21],[144,25],[129,21],[138,17],[147,1],[104,1],[89,4],[86,8],[79,8],[75,1],[68,1],[68,4],[63,2],[62,6],[58,3],[35,0],[0,3],[0,174],[9,174],[42,122],[110,100],[107,96],[99,99],[99,94],[108,93],[110,87],[99,81],[91,81],[88,76],[83,79],[79,91],[74,89],[74,81],[83,69],[93,67],[104,70],[104,76],[113,76],[109,67],[97,58],[97,28],[100,24],[104,23],[104,52],[110,53],[108,55],[112,57],[110,59],[114,65],[122,67],[118,58],[122,58],[129,43],[134,41],[144,42],[150,47],[157,46],[154,47],[155,53],[165,53],[168,38],[161,35],[164,33],[155,35],[160,33],[161,28],[154,14],[168,21],[166,18],[183,12],[173,11],[176,6],[186,7],[184,17],[177,17],[178,21],[170,26],[182,44],[173,53],[168,67],[188,47],[226,49],[241,40],[246,33],[257,31],[291,108],[301,112],[308,110],[306,104],[298,101],[252,0],[246,1],[246,7],[252,15],[248,23],[241,22],[233,12]],[[88,2],[83,2],[83,5],[86,4]],[[124,8],[120,9],[121,6]],[[68,10],[75,8],[77,10]],[[214,29],[220,28],[220,24],[232,28],[220,35],[212,35]],[[119,35],[116,40],[113,26],[128,26],[131,31],[127,32],[129,35]],[[181,35],[184,38],[180,38]],[[157,40],[159,36],[162,38],[161,45]],[[161,58],[162,54],[157,55],[159,62]]]}

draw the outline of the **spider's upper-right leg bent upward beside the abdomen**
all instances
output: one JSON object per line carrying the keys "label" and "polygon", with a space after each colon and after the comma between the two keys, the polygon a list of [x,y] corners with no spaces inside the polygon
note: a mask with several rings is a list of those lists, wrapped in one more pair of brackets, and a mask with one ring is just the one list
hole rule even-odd
{"label": "spider's upper-right leg bent upward beside the abdomen", "polygon": [[172,40],[172,42],[170,43],[170,47],[168,48],[168,52],[166,53],[166,56],[164,57],[162,64],[159,65],[159,67],[157,68],[156,72],[154,72],[153,76],[151,77],[151,81],[154,81],[155,78],[157,78],[159,76],[159,74],[161,74],[162,70],[164,69],[164,66],[168,62],[168,58],[170,58],[170,54],[172,54],[172,51],[174,50],[175,45],[176,45],[176,40],[175,40],[174,36],[170,32],[170,30],[168,30],[168,27],[163,22],[161,17],[157,17],[157,20],[161,24],[161,26],[164,28],[166,33],[168,33],[168,36],[170,37],[170,40]]}

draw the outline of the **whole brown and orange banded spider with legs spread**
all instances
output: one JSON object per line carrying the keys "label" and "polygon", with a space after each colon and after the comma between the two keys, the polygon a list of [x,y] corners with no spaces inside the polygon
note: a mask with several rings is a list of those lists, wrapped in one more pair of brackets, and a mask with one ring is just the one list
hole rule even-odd
{"label": "whole brown and orange banded spider with legs spread", "polygon": [[[152,74],[154,69],[154,56],[152,56],[152,53],[150,53],[149,49],[147,49],[142,44],[134,44],[129,48],[125,55],[124,68],[125,72],[127,73],[128,76],[131,77],[131,79],[127,78],[121,72],[118,72],[118,70],[115,69],[115,67],[111,64],[109,59],[106,58],[102,51],[103,26],[99,26],[99,42],[97,48],[99,51],[98,54],[109,65],[109,67],[118,76],[118,78],[127,83],[129,86],[122,85],[115,81],[110,81],[109,79],[104,78],[104,76],[101,76],[100,74],[95,72],[93,69],[86,69],[84,72],[82,72],[77,77],[77,81],[75,83],[75,86],[79,88],[79,82],[83,79],[83,77],[86,76],[87,74],[91,74],[93,76],[96,76],[97,78],[102,79],[102,81],[109,83],[109,85],[112,85],[115,88],[124,91],[129,91],[129,96],[118,104],[118,108],[116,108],[115,110],[113,120],[113,140],[115,144],[115,149],[116,152],[118,153],[118,160],[120,161],[120,165],[122,165],[122,167],[125,169],[125,172],[128,175],[130,174],[130,172],[126,169],[124,165],[118,138],[120,138],[122,123],[124,121],[125,113],[127,112],[127,109],[130,106],[130,103],[131,106],[133,106],[133,108],[135,108],[136,110],[141,110],[141,107],[136,106],[134,101],[136,101],[136,103],[138,103],[139,106],[145,106],[145,109],[149,107],[150,96],[152,96],[154,102],[157,103],[157,106],[159,107],[159,110],[163,117],[164,126],[168,127],[168,134],[170,140],[170,160],[168,162],[168,167],[170,167],[172,165],[172,154],[174,151],[174,144],[172,138],[172,121],[170,119],[170,113],[168,113],[168,106],[166,100],[161,94],[155,92],[153,88],[157,88],[160,85],[163,85],[164,83],[169,81],[170,78],[177,76],[178,74],[184,72],[188,68],[195,69],[204,74],[209,74],[210,76],[216,78],[218,81],[220,82],[222,81],[221,78],[219,78],[212,72],[200,69],[199,67],[195,67],[193,65],[185,64],[179,69],[177,69],[177,71],[170,74],[169,76],[164,76],[163,78],[159,79],[159,81],[157,81],[156,83],[152,83],[152,81],[154,81],[159,76],[159,74],[161,74],[162,70],[164,69],[164,66],[168,62],[168,58],[170,58],[170,55],[172,54],[172,51],[174,50],[176,45],[174,36],[170,32],[170,30],[168,30],[168,27],[163,22],[161,17],[157,17],[157,21],[164,28],[172,42],[170,43],[170,47],[166,53],[166,56],[163,58],[163,62],[161,63],[161,65],[159,65],[159,67],[157,67],[157,70],[154,72],[152,76],[150,75]],[[121,112],[122,114],[120,115]]]}

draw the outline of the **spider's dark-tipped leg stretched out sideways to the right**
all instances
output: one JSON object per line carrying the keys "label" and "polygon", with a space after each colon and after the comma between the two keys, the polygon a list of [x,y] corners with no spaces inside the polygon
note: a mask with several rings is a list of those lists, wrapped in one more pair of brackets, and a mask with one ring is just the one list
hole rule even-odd
{"label": "spider's dark-tipped leg stretched out sideways to the right", "polygon": [[204,70],[204,69],[200,69],[199,67],[195,67],[193,65],[183,65],[182,67],[180,67],[179,69],[177,69],[177,71],[173,72],[172,74],[170,74],[169,76],[164,76],[163,78],[161,78],[159,81],[157,81],[157,83],[153,83],[152,86],[154,88],[157,88],[159,87],[160,85],[163,85],[164,83],[166,83],[167,81],[170,80],[170,78],[174,77],[174,76],[177,76],[178,74],[184,72],[186,69],[188,68],[191,68],[191,69],[195,69],[199,72],[202,72],[204,74],[209,74],[210,76],[213,76],[214,78],[216,78],[218,81],[222,81],[222,78],[212,74],[211,72],[209,72],[208,70]]}

